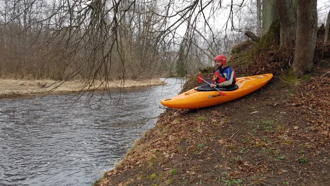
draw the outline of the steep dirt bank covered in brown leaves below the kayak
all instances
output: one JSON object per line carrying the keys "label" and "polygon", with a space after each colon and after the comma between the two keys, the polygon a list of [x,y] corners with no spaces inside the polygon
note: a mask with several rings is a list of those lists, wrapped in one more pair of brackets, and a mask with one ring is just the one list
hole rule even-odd
{"label": "steep dirt bank covered in brown leaves below the kayak", "polygon": [[328,185],[330,68],[322,65],[222,105],[167,109],[95,185]]}

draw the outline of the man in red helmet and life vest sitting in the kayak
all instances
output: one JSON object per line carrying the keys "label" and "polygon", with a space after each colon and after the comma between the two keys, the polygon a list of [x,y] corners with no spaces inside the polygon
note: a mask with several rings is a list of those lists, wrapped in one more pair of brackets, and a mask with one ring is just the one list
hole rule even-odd
{"label": "man in red helmet and life vest sitting in the kayak", "polygon": [[210,87],[227,87],[234,85],[236,82],[236,74],[231,67],[225,66],[227,59],[224,55],[218,55],[214,58],[215,67],[217,68],[214,72]]}

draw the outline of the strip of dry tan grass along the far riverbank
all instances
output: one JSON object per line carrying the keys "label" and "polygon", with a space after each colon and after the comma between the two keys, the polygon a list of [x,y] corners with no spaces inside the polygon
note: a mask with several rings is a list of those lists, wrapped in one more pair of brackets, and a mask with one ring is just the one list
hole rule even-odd
{"label": "strip of dry tan grass along the far riverbank", "polygon": [[[83,86],[83,81],[73,80],[66,82],[58,82],[53,80],[14,80],[14,79],[0,79],[0,98],[33,96],[44,94],[61,94],[72,93],[86,90]],[[137,80],[114,80],[109,81],[108,88],[129,88],[129,87],[143,87],[164,85],[165,82],[158,78],[153,79],[137,79]],[[96,81],[95,86],[91,90],[104,90],[105,84]]]}

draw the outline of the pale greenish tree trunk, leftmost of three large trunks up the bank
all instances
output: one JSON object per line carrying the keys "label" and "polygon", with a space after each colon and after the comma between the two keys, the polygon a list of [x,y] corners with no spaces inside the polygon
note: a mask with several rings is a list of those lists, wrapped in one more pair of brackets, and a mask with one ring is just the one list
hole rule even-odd
{"label": "pale greenish tree trunk, leftmost of three large trunks up the bank", "polygon": [[278,21],[278,13],[275,0],[262,1],[262,34],[266,33],[270,26]]}

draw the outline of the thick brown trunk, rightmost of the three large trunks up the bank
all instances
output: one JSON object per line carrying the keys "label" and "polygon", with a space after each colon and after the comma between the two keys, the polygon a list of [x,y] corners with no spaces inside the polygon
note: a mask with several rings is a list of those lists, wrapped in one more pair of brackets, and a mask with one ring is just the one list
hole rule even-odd
{"label": "thick brown trunk, rightmost of the three large trunks up the bank", "polygon": [[316,0],[299,0],[297,3],[297,29],[292,70],[300,77],[311,70],[316,44]]}

